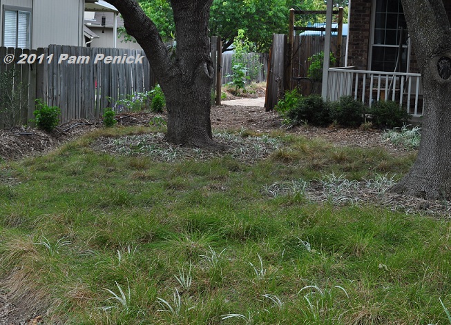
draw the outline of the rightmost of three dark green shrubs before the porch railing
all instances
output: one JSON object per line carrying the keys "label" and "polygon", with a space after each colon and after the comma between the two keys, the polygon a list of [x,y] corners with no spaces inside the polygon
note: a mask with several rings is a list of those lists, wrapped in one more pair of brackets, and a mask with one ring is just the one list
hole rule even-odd
{"label": "rightmost of three dark green shrubs before the porch railing", "polygon": [[396,101],[376,101],[369,112],[373,125],[379,128],[401,127],[412,118]]}

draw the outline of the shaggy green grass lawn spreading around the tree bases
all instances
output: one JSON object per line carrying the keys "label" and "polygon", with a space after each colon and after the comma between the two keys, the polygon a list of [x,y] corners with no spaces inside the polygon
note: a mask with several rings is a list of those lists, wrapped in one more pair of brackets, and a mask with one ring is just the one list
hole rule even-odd
{"label": "shaggy green grass lawn spreading around the tree bases", "polygon": [[400,177],[414,152],[241,130],[210,155],[143,133],[0,164],[0,275],[48,324],[450,323],[450,221],[296,187]]}

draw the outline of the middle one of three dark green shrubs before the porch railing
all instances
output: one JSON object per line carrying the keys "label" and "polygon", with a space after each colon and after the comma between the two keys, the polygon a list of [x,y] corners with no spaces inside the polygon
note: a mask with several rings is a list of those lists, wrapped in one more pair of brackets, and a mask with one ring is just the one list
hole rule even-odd
{"label": "middle one of three dark green shrubs before the porch railing", "polygon": [[365,106],[352,96],[343,96],[332,104],[330,115],[340,126],[357,127],[365,121]]}

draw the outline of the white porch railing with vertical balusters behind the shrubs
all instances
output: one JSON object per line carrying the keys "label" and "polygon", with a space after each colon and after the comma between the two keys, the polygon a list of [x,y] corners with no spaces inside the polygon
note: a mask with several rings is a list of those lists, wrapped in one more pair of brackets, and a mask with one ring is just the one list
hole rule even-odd
{"label": "white porch railing with vertical balusters behind the shrubs", "polygon": [[423,115],[423,83],[419,73],[330,68],[327,97],[352,96],[371,106],[374,101],[398,101],[414,117]]}

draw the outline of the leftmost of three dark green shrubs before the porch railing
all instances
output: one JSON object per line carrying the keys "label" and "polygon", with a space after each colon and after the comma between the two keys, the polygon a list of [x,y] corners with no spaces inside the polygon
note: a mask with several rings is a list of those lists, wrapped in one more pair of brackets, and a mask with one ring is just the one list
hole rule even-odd
{"label": "leftmost of three dark green shrubs before the porch railing", "polygon": [[329,115],[329,103],[320,95],[299,97],[296,106],[285,112],[285,116],[294,124],[300,121],[316,126],[325,126],[332,122]]}

